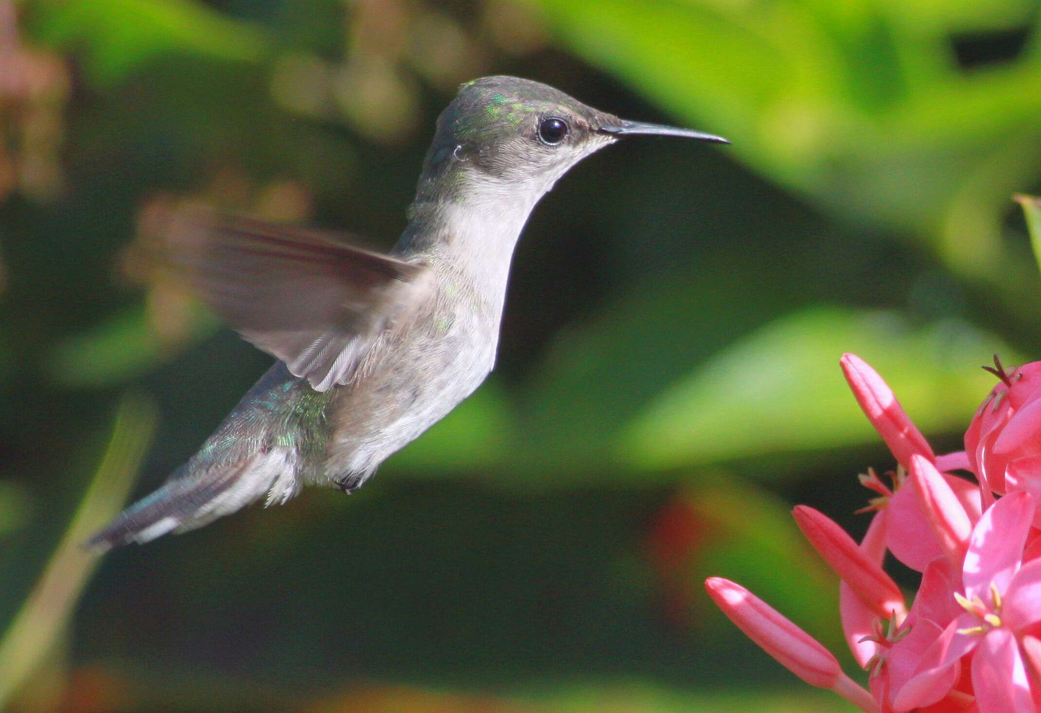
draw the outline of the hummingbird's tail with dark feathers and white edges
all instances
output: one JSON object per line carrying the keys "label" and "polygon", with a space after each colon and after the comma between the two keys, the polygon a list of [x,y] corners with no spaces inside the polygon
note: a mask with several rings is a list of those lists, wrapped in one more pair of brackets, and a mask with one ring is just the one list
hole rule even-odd
{"label": "hummingbird's tail with dark feathers and white edges", "polygon": [[181,466],[162,487],[121,512],[83,545],[105,552],[171,532],[187,532],[265,494],[268,505],[284,503],[300,490],[295,460],[290,452],[275,449],[238,463],[211,466],[201,474]]}

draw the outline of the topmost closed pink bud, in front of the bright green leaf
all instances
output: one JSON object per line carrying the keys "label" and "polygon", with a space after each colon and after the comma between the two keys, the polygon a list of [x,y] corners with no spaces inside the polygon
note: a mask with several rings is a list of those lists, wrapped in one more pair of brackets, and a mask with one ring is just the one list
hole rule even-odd
{"label": "topmost closed pink bud, in front of the bright green leaf", "polygon": [[896,460],[905,467],[914,454],[933,460],[929,441],[908,417],[882,377],[855,354],[843,354],[839,363],[861,409]]}

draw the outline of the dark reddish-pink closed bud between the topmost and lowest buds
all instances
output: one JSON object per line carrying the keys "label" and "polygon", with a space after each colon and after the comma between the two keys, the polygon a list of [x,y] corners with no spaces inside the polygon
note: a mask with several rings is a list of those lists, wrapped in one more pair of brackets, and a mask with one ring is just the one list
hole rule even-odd
{"label": "dark reddish-pink closed bud between the topmost and lowest buds", "polygon": [[792,514],[810,544],[877,616],[904,620],[907,606],[900,588],[837,523],[805,505]]}

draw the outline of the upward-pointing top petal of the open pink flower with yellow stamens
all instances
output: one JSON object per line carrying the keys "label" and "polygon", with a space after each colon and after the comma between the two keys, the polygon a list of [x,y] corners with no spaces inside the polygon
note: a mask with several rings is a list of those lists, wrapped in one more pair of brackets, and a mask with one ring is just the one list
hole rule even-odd
{"label": "upward-pointing top petal of the open pink flower with yellow stamens", "polygon": [[1023,545],[1034,520],[1034,502],[1025,492],[1013,492],[983,514],[969,540],[962,567],[965,596],[990,602],[993,583],[1004,592],[1019,568]]}

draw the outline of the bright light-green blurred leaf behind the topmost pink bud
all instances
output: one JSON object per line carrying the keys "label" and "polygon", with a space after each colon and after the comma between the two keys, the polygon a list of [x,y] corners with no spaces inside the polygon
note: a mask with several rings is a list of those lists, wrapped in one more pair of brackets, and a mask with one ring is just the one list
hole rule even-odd
{"label": "bright light-green blurred leaf behind the topmost pink bud", "polygon": [[866,359],[926,434],[968,427],[993,386],[980,368],[997,337],[958,321],[913,328],[893,312],[802,310],[701,364],[637,415],[618,457],[640,467],[878,442],[839,370],[843,352]]}

